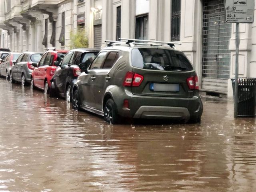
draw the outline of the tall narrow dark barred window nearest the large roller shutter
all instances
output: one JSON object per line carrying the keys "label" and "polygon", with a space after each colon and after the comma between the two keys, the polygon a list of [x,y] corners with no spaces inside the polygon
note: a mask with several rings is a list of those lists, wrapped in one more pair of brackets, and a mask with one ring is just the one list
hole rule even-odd
{"label": "tall narrow dark barred window nearest the large roller shutter", "polygon": [[171,41],[180,41],[180,0],[172,0]]}

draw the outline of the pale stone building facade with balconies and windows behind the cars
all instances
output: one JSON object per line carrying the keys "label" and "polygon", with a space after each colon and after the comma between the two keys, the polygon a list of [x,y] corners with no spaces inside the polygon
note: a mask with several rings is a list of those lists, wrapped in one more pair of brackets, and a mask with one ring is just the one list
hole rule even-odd
{"label": "pale stone building facade with balconies and windows behind the cars", "polygon": [[[255,0],[256,1],[256,0]],[[136,38],[180,42],[200,90],[232,98],[235,24],[224,22],[224,0],[0,0],[0,46],[15,52],[69,49],[84,27],[89,46]],[[254,9],[255,12],[255,9]],[[240,24],[239,76],[256,76],[256,22]]]}

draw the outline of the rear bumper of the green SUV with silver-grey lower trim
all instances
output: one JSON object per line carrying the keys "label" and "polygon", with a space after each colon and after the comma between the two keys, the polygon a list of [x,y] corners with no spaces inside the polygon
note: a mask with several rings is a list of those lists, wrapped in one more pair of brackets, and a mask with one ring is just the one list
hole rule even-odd
{"label": "rear bumper of the green SUV with silver-grey lower trim", "polygon": [[[123,107],[125,99],[129,102],[129,108]],[[203,112],[199,94],[191,98],[153,97],[133,95],[125,90],[125,94],[114,97],[114,101],[118,114],[130,118],[189,120],[200,118]]]}

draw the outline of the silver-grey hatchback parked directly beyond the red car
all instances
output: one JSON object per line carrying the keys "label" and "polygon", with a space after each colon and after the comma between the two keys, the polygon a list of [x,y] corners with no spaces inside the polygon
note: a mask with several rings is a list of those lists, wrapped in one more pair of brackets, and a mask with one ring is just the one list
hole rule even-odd
{"label": "silver-grey hatchback parked directly beyond the red car", "polygon": [[43,53],[37,52],[22,53],[10,70],[10,81],[21,82],[22,86],[30,84],[32,71],[42,55]]}

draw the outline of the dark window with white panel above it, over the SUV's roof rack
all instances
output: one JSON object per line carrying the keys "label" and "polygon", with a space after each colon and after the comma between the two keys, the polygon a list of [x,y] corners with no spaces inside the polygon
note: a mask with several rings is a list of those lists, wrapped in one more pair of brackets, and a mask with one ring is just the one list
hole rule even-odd
{"label": "dark window with white panel above it, over the SUV's roof rack", "polygon": [[135,38],[148,39],[148,14],[136,18]]}

